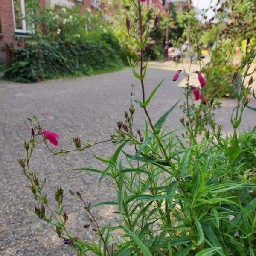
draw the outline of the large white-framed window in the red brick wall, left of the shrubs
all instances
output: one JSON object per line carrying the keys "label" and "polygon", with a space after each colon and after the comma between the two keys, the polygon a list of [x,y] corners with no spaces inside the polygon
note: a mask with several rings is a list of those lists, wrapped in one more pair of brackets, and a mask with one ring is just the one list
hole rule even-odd
{"label": "large white-framed window in the red brick wall, left of the shrubs", "polygon": [[25,0],[12,0],[14,31],[17,33],[31,33],[33,28],[26,22]]}

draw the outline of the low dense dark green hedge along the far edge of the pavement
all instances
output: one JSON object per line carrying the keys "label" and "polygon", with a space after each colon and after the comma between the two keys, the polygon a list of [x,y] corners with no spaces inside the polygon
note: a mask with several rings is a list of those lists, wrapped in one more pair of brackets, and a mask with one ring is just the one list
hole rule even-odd
{"label": "low dense dark green hedge along the far edge of the pavement", "polygon": [[15,48],[15,55],[4,79],[18,82],[117,70],[122,67],[123,57],[118,40],[108,33],[97,41],[30,42],[27,48]]}

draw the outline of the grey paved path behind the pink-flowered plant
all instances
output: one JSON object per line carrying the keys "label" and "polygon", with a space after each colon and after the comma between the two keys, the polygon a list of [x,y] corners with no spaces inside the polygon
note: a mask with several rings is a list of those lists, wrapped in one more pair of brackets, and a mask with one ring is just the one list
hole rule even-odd
{"label": "grey paved path behind the pink-flowered plant", "polygon": [[[171,82],[173,71],[148,69],[146,94],[166,79],[151,101],[148,112],[155,122],[157,117],[170,108],[178,99],[183,99],[181,88]],[[20,84],[0,81],[0,255],[4,256],[73,256],[75,253],[63,244],[52,226],[40,221],[33,212],[37,205],[29,191],[29,183],[23,177],[17,158],[24,157],[23,142],[29,136],[29,122],[26,118],[38,115],[44,129],[61,135],[59,146],[71,148],[72,137],[79,136],[96,142],[109,138],[116,120],[122,119],[123,111],[130,103],[131,84],[140,98],[140,87],[132,78],[131,71],[102,74],[79,79],[62,79],[38,84]],[[236,100],[225,99],[223,108],[216,113],[225,131],[231,132],[230,112]],[[251,103],[255,106],[256,104]],[[143,112],[135,111],[137,127],[143,125]],[[255,114],[246,110],[241,129],[251,128]],[[177,129],[180,125],[180,109],[176,108],[165,123],[166,128]],[[84,230],[88,216],[77,199],[67,192],[78,190],[84,198],[92,201],[113,200],[115,190],[104,180],[97,187],[98,175],[70,171],[73,167],[103,166],[96,162],[89,151],[71,153],[64,157],[52,156],[42,143],[38,143],[31,166],[42,179],[47,177],[46,190],[53,199],[56,186],[65,188],[64,205],[73,226],[69,229],[82,240],[93,240],[93,233]],[[111,143],[97,145],[93,153],[107,158],[114,151]],[[96,166],[95,166],[96,165]],[[101,224],[113,217],[111,207],[101,207],[96,218]],[[70,222],[71,222],[70,221]]]}

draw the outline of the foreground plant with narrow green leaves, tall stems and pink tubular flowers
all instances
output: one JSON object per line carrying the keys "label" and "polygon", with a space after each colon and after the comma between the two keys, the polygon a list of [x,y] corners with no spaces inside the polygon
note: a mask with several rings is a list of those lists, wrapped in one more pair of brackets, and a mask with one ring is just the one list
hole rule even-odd
{"label": "foreground plant with narrow green leaves, tall stems and pink tubular flowers", "polygon": [[[240,135],[237,131],[244,108],[256,111],[248,105],[253,82],[253,73],[248,70],[256,55],[255,47],[249,47],[253,38],[247,38],[246,52],[233,73],[237,98],[230,120],[233,134],[223,136],[221,126],[212,115],[213,102],[208,95],[210,80],[202,76],[202,70],[205,70],[202,67],[195,74],[200,84],[198,88],[190,87],[192,74],[190,70],[184,70],[187,76],[183,116],[186,118],[186,122],[183,121],[185,134],[178,136],[164,129],[163,125],[179,102],[166,113],[160,113],[155,123],[147,109],[162,81],[146,99],[148,61],[144,65],[143,54],[159,16],[154,18],[153,27],[145,25],[143,2],[132,1],[139,15],[139,25],[135,30],[130,30],[129,17],[126,19],[128,33],[140,52],[139,70],[132,59],[128,58],[128,63],[142,94],[135,96],[131,93],[129,111],[124,112],[123,120],[117,121],[110,140],[88,143],[74,137],[75,148],[54,150],[49,143],[57,146],[60,136],[44,130],[38,117],[29,118],[31,138],[24,143],[26,158],[18,159],[18,162],[38,202],[35,213],[55,227],[58,236],[64,240],[63,246],[71,247],[79,256],[90,253],[98,256],[253,256],[256,253],[256,130]],[[191,62],[194,58],[198,61],[204,59],[195,55]],[[183,70],[177,71],[173,81],[179,79],[181,72]],[[241,88],[238,86],[239,73],[244,76]],[[247,76],[251,76],[248,84],[244,82]],[[135,106],[143,109],[146,118],[145,127],[138,131],[134,131]],[[195,108],[197,112],[192,113]],[[211,129],[206,129],[199,138],[203,126],[198,124],[201,113],[207,116]],[[38,180],[30,163],[40,139],[52,154],[60,156],[84,151],[99,143],[118,145],[109,159],[95,156],[105,164],[105,169],[78,169],[98,173],[99,186],[104,178],[110,179],[116,189],[115,201],[87,202],[81,191],[74,192],[69,188],[71,195],[81,202],[90,216],[90,224],[77,228],[92,226],[99,237],[98,243],[84,242],[67,229],[68,213],[64,210],[64,190],[61,187],[55,191],[56,206],[49,204],[49,193],[44,190],[45,180]],[[131,148],[134,148],[133,153]],[[119,217],[103,227],[93,212],[93,208],[102,205],[114,205],[116,210],[113,214]],[[121,232],[121,239],[114,235],[116,230]]]}

